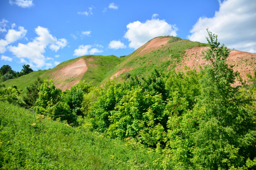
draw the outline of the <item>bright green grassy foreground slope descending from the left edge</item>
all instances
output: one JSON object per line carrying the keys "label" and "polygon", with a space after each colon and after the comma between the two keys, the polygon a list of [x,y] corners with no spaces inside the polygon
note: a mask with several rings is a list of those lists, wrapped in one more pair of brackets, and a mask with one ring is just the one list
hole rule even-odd
{"label": "bright green grassy foreground slope descending from the left edge", "polygon": [[[0,102],[0,169],[161,169],[160,154]],[[153,161],[154,162],[153,165]]]}

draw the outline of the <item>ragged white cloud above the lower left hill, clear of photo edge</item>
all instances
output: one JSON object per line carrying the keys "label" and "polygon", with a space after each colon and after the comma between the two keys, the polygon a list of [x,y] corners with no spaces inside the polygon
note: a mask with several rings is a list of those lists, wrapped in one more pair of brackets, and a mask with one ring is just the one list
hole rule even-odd
{"label": "ragged white cloud above the lower left hill, clear of photo edge", "polygon": [[44,57],[44,52],[46,47],[50,47],[51,50],[57,51],[59,48],[63,48],[67,45],[67,40],[64,38],[57,39],[50,34],[47,28],[38,26],[36,29],[36,34],[32,42],[27,44],[18,43],[18,46],[8,46],[8,50],[13,52],[16,57],[20,60],[26,61],[28,59],[31,67],[51,67],[51,63],[46,62]]}

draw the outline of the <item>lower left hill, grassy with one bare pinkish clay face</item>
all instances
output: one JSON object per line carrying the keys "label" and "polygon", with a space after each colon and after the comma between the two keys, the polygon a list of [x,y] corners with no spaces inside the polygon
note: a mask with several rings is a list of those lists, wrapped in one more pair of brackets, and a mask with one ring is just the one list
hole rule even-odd
{"label": "lower left hill, grassy with one bare pinkish clay face", "polygon": [[62,90],[70,89],[79,80],[91,82],[98,85],[106,76],[108,71],[118,65],[122,58],[114,55],[85,55],[61,62],[59,65],[49,70],[34,71],[28,75],[10,79],[5,81],[5,85],[17,85],[18,90],[25,90],[27,85],[33,83],[36,77],[41,77],[42,80],[53,79],[56,87]]}

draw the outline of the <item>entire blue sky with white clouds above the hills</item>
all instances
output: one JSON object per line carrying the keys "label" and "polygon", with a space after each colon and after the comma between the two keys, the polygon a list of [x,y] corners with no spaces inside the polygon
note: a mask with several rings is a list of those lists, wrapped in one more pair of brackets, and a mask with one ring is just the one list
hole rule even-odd
{"label": "entire blue sky with white clouds above the hills", "polygon": [[82,55],[128,55],[174,35],[256,52],[255,0],[1,0],[0,66],[48,69]]}

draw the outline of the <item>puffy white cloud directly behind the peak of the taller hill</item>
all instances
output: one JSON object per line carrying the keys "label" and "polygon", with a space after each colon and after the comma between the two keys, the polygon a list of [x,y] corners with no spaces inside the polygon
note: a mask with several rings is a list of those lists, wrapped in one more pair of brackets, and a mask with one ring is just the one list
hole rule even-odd
{"label": "puffy white cloud directly behind the peak of the taller hill", "polygon": [[129,47],[134,49],[141,47],[154,37],[163,35],[176,36],[176,31],[178,30],[175,25],[170,25],[165,20],[159,19],[147,20],[145,23],[135,21],[129,23],[126,27],[128,30],[125,32],[124,37],[131,41]]}

